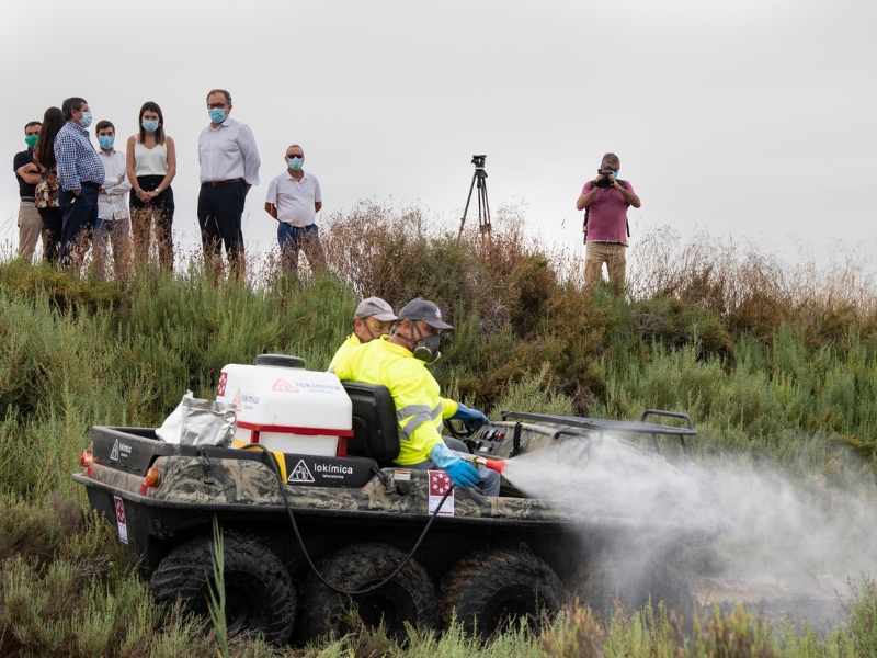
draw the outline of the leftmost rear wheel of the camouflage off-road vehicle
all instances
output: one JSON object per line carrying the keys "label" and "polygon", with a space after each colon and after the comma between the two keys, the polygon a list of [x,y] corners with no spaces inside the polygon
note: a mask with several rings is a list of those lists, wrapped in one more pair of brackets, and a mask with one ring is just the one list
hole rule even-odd
{"label": "leftmost rear wheel of the camouflage off-road vehicle", "polygon": [[[263,633],[267,642],[285,643],[295,621],[289,572],[274,553],[255,541],[226,535],[224,544],[228,635]],[[156,602],[172,603],[180,598],[191,612],[208,616],[207,583],[216,587],[212,548],[212,538],[205,536],[171,551],[149,581]]]}

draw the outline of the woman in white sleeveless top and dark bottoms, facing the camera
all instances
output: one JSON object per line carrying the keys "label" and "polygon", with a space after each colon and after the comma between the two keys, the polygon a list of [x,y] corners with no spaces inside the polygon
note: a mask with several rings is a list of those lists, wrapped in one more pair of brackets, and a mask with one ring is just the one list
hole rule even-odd
{"label": "woman in white sleeveless top and dark bottoms, facing the camera", "polygon": [[128,137],[127,170],[132,182],[130,228],[134,257],[138,264],[149,258],[155,220],[158,260],[173,269],[173,190],[176,175],[176,148],[164,135],[161,107],[147,101],[140,107],[140,132]]}

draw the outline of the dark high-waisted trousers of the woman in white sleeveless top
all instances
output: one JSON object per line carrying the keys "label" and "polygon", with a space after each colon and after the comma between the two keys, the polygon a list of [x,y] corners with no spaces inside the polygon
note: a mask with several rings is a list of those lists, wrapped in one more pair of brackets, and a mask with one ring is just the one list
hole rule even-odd
{"label": "dark high-waisted trousers of the woman in white sleeveless top", "polygon": [[[164,180],[163,175],[138,175],[137,186],[152,192]],[[145,263],[149,258],[149,243],[155,224],[158,261],[162,268],[173,269],[173,190],[166,188],[161,193],[144,203],[137,193],[130,191],[130,232],[134,238],[134,258]]]}

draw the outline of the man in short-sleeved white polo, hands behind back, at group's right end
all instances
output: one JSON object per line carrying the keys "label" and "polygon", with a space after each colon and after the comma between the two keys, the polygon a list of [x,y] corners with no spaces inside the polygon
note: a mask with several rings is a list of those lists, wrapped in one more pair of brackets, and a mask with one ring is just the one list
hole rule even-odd
{"label": "man in short-sleeved white polo, hands behind back, at group's right end", "polygon": [[265,212],[277,220],[277,242],[286,269],[298,269],[298,251],[305,252],[312,272],[326,269],[320,229],[314,223],[322,208],[320,182],[306,173],[305,151],[297,144],[286,149],[286,171],[267,186]]}

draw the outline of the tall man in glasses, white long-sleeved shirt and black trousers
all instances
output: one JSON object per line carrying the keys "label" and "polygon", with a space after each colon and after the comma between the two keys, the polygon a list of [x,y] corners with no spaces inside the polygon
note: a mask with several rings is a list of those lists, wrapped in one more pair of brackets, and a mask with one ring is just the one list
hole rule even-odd
{"label": "tall man in glasses, white long-sleeved shirt and black trousers", "polygon": [[201,193],[198,226],[206,265],[221,266],[225,245],[232,272],[243,272],[241,216],[250,188],[259,184],[259,149],[247,124],[229,116],[231,94],[214,89],[207,94],[210,125],[198,138]]}

